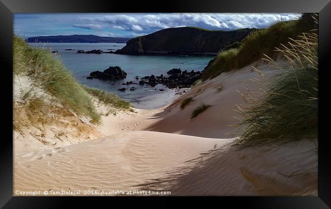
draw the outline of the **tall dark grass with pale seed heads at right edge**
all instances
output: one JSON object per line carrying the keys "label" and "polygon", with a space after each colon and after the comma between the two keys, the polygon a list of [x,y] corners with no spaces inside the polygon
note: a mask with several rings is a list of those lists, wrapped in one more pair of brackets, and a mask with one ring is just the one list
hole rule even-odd
{"label": "tall dark grass with pale seed heads at right edge", "polygon": [[[238,144],[247,147],[274,140],[298,140],[318,134],[318,35],[311,32],[277,48],[289,67],[278,67],[269,90],[240,108],[244,116]],[[271,58],[267,58],[274,63]],[[247,98],[246,98],[247,99]]]}

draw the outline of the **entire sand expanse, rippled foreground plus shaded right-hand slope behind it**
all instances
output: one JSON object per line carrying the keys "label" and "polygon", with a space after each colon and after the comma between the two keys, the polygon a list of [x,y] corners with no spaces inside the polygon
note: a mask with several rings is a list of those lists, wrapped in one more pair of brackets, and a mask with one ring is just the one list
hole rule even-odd
{"label": "entire sand expanse, rippled foreground plus shaded right-hand slope behind it", "polygon": [[[261,62],[253,66],[259,66],[266,77],[273,71]],[[229,145],[235,139],[227,134],[235,129],[228,125],[236,123],[233,109],[242,103],[237,90],[258,91],[261,87],[253,81],[238,81],[254,77],[258,74],[247,66],[193,87],[166,107],[103,117],[98,130],[106,137],[100,139],[15,151],[14,195],[16,190],[96,190],[99,195],[102,190],[317,195],[316,140],[239,151]],[[187,97],[194,100],[180,110]],[[212,106],[191,120],[192,110],[201,102]],[[217,150],[209,153],[213,149]]]}

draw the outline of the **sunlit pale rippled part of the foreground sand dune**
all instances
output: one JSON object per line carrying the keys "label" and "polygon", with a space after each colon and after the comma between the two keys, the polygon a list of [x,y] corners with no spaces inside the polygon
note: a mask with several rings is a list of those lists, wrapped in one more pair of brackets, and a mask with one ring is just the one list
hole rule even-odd
{"label": "sunlit pale rippled part of the foreground sand dune", "polygon": [[227,140],[128,132],[15,156],[15,190],[130,190]]}

